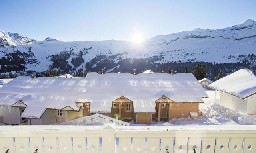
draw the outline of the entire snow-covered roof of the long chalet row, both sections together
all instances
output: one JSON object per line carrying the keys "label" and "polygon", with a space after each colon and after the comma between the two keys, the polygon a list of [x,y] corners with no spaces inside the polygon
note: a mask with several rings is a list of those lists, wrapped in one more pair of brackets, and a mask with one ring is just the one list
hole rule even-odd
{"label": "entire snow-covered roof of the long chalet row, both sections together", "polygon": [[155,112],[155,101],[166,96],[174,102],[203,102],[207,98],[191,73],[87,73],[86,77],[17,77],[0,88],[0,104],[22,100],[28,105],[22,117],[40,118],[47,108],[90,102],[90,112],[111,112],[112,102],[124,96],[133,101],[134,112]]}

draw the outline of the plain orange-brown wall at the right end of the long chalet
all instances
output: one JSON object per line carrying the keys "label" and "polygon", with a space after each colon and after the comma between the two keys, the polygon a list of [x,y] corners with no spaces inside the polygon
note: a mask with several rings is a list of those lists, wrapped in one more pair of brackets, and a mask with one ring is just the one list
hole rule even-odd
{"label": "plain orange-brown wall at the right end of the long chalet", "polygon": [[199,111],[199,103],[170,103],[169,120],[173,118],[187,118],[190,112]]}

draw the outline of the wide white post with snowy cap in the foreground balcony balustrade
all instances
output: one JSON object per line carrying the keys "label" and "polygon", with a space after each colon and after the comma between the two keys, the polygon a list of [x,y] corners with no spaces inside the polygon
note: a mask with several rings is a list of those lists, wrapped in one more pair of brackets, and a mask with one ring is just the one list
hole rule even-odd
{"label": "wide white post with snowy cap in the foreground balcony balustrade", "polygon": [[102,152],[115,153],[115,126],[116,124],[104,124],[102,127]]}

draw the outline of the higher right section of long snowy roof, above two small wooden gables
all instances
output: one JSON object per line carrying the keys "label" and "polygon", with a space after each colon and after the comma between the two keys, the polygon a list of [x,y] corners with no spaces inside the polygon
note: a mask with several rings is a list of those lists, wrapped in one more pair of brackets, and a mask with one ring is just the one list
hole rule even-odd
{"label": "higher right section of long snowy roof, above two small wooden gables", "polygon": [[155,112],[155,101],[163,95],[174,102],[203,102],[202,97],[208,97],[191,73],[87,73],[86,79],[90,85],[81,96],[91,102],[90,112],[110,112],[112,101],[121,96],[133,101],[134,112]]}

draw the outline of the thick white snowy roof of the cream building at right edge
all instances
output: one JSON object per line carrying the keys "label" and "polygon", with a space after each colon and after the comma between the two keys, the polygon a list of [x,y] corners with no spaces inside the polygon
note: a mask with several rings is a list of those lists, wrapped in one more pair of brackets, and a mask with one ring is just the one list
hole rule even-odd
{"label": "thick white snowy roof of the cream building at right edge", "polygon": [[244,99],[256,93],[256,75],[254,73],[255,71],[240,69],[209,86]]}

